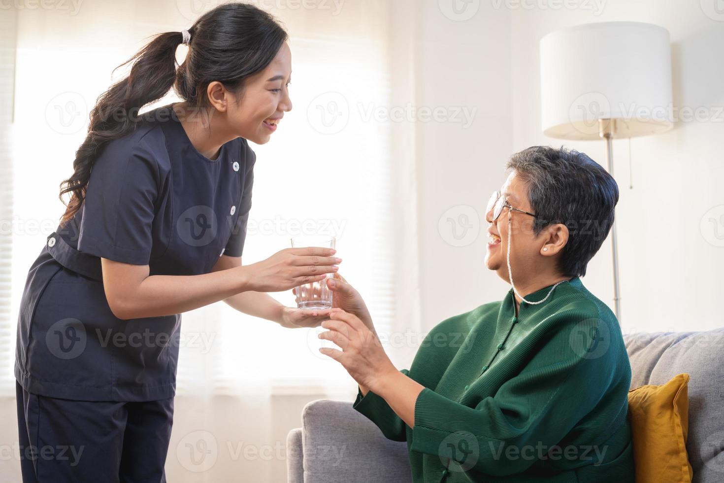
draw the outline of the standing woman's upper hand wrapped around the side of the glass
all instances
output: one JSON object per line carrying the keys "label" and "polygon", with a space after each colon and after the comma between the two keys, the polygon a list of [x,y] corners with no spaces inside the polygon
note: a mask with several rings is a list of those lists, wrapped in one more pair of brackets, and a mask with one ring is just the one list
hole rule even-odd
{"label": "standing woman's upper hand wrapped around the side of the glass", "polygon": [[326,274],[337,272],[332,248],[285,248],[266,260],[243,265],[245,290],[282,292],[309,282],[322,280]]}

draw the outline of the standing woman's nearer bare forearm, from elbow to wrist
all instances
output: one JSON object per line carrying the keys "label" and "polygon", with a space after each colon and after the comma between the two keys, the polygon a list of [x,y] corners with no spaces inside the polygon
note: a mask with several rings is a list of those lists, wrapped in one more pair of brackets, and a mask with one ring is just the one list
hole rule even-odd
{"label": "standing woman's nearer bare forearm, from elbow to wrist", "polygon": [[181,314],[245,290],[243,267],[201,275],[151,275],[112,307],[119,319]]}

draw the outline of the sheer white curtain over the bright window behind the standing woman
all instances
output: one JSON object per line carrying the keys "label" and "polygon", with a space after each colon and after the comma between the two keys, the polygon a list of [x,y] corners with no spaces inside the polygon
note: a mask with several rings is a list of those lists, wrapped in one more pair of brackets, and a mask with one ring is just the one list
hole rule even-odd
{"label": "sheer white curtain over the bright window behind the standing woman", "polygon": [[[253,3],[276,15],[290,33],[293,109],[270,143],[253,146],[257,163],[243,261],[287,248],[290,237],[300,232],[334,234],[343,259],[340,273],[363,294],[376,327],[390,341],[386,345],[395,364],[408,367],[420,340],[410,337],[411,330],[419,331],[417,199],[411,175],[415,137],[413,123],[384,114],[415,94],[412,20],[403,12],[411,2]],[[0,151],[2,180],[14,179],[13,191],[2,185],[0,213],[12,218],[13,253],[11,259],[9,243],[0,238],[3,408],[12,408],[14,339],[25,276],[63,212],[58,185],[72,172],[89,110],[125,73],[118,70],[111,78],[111,70],[138,51],[148,35],[188,28],[216,3],[85,0],[68,2],[64,9],[54,5],[9,12],[17,18],[17,50],[14,43],[10,49],[17,59],[14,148],[12,156],[4,156],[7,143]],[[393,16],[400,22],[392,25]],[[6,59],[4,54],[4,64]],[[158,104],[174,100],[169,94]],[[12,171],[14,178],[5,175]],[[294,303],[291,293],[272,295]],[[171,481],[285,481],[285,454],[279,447],[299,426],[303,404],[317,398],[351,400],[356,392],[342,366],[321,356],[316,332],[282,329],[224,303],[183,314],[167,458]],[[14,414],[7,416],[12,423]],[[15,434],[14,423],[8,426],[4,441]],[[189,445],[206,445],[214,453],[194,459]],[[3,481],[19,481],[14,458],[0,461],[0,468]]]}

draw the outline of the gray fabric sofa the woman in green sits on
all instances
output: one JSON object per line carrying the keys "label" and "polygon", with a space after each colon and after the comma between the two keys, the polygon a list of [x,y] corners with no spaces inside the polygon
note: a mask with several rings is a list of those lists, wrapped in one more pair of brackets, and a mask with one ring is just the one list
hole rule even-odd
{"label": "gray fabric sofa the woman in green sits on", "polygon": [[[724,482],[724,329],[624,338],[631,388],[691,375],[686,449],[694,483]],[[287,436],[289,483],[411,482],[407,443],[387,440],[351,401],[313,401],[302,421]]]}

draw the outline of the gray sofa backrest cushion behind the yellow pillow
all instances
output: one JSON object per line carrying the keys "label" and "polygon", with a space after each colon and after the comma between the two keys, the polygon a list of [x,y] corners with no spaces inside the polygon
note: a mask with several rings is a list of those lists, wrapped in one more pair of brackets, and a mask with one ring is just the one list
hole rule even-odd
{"label": "gray sofa backrest cushion behind the yellow pillow", "polygon": [[624,336],[631,389],[662,385],[676,374],[689,380],[689,453],[694,483],[724,481],[724,328]]}

